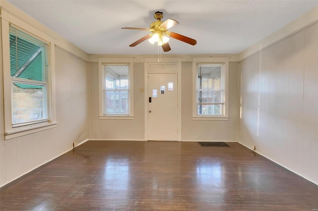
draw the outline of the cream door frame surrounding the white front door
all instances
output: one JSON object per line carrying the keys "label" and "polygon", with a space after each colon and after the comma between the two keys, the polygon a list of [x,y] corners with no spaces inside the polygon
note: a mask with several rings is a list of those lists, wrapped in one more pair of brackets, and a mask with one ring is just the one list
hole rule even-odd
{"label": "cream door frame surrounding the white front door", "polygon": [[181,141],[181,57],[144,57],[144,76],[145,76],[145,141],[148,141],[148,73],[177,73],[178,76],[178,141]]}

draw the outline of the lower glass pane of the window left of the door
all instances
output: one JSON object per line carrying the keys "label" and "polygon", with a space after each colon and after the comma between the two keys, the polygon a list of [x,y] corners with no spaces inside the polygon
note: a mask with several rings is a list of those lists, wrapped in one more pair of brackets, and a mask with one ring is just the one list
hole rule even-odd
{"label": "lower glass pane of the window left of the door", "polygon": [[129,114],[128,95],[128,90],[106,90],[106,114]]}

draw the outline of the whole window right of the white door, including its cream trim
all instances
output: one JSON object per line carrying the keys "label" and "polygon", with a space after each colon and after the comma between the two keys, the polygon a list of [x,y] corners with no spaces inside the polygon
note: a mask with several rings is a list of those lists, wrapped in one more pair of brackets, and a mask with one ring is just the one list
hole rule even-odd
{"label": "whole window right of the white door, including its cream trim", "polygon": [[228,119],[229,58],[193,58],[193,119]]}

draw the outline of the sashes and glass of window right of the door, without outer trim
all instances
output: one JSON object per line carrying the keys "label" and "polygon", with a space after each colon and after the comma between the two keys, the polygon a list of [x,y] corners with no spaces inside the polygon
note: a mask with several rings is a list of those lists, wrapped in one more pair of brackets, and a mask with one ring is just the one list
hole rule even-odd
{"label": "sashes and glass of window right of the door, without outer trim", "polygon": [[197,115],[224,115],[222,64],[197,66]]}

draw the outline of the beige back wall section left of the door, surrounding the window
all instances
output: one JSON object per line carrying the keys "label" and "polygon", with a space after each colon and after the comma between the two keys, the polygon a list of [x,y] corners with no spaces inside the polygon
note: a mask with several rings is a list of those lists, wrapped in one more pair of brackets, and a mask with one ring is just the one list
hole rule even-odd
{"label": "beige back wall section left of the door, surrounding the window", "polygon": [[134,119],[99,119],[98,63],[89,64],[90,139],[144,140],[144,63],[134,63]]}

